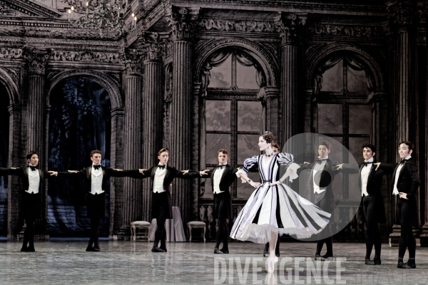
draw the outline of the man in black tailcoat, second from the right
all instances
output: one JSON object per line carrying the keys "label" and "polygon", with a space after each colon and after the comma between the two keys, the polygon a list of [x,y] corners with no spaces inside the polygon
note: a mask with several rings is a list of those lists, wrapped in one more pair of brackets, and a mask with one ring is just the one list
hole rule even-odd
{"label": "man in black tailcoat, second from the right", "polygon": [[[362,146],[362,156],[364,157],[362,165],[350,165],[347,163],[337,165],[337,169],[342,170],[342,172],[358,173],[358,186],[361,191],[362,209],[367,228],[365,256],[365,264],[367,265],[381,264],[380,251],[382,247],[382,237],[377,224],[386,223],[387,218],[385,217],[385,208],[380,187],[382,185],[383,175],[391,174],[395,168],[395,165],[382,163],[383,167],[377,170],[377,165],[374,165],[374,155],[376,155],[376,147],[371,144],[366,144]],[[370,260],[373,245],[374,259]]]}

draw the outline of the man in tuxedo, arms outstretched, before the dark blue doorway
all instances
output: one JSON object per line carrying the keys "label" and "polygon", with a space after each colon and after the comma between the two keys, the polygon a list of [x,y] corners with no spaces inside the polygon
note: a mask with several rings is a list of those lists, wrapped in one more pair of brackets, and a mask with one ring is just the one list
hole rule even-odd
{"label": "man in tuxedo, arms outstretched, before the dark blue doorway", "polygon": [[[78,176],[86,180],[88,185],[86,214],[91,219],[91,236],[89,237],[86,252],[99,252],[98,242],[100,220],[106,214],[106,187],[110,177],[125,177],[126,172],[115,171],[101,165],[102,153],[100,150],[91,151],[92,165],[83,170],[68,170],[58,172],[58,177]],[[56,174],[56,172],[54,172]]]}

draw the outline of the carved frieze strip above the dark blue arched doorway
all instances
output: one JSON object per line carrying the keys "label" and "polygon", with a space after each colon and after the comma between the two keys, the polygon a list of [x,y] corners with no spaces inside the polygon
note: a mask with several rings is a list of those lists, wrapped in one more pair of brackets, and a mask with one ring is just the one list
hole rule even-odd
{"label": "carved frieze strip above the dark blue arched doorway", "polygon": [[50,61],[80,61],[99,63],[119,63],[118,53],[92,51],[55,51],[51,50]]}

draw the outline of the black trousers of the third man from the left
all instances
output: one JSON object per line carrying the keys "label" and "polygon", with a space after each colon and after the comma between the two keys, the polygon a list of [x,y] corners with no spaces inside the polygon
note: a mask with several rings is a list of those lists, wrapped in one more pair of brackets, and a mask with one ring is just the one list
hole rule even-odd
{"label": "black trousers of the third man from the left", "polygon": [[165,231],[165,221],[169,219],[169,204],[168,204],[168,194],[167,192],[153,193],[153,205],[159,207],[158,216],[156,217],[156,223],[158,227],[155,232],[155,242],[153,247],[158,247],[159,242],[161,242],[161,249],[166,249],[166,231]]}

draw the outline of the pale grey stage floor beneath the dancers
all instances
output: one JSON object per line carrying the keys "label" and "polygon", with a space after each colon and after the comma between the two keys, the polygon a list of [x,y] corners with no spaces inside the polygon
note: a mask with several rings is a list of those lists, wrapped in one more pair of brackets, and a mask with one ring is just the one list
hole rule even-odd
{"label": "pale grey stage floor beneath the dancers", "polygon": [[86,242],[36,242],[26,253],[0,242],[0,284],[428,284],[427,247],[417,248],[417,269],[405,270],[388,244],[382,265],[368,266],[365,244],[335,243],[335,261],[315,261],[315,243],[284,242],[267,274],[263,245],[251,242],[231,242],[230,254],[213,254],[211,242],[170,242],[162,254],[151,242],[100,244],[101,252],[85,252]]}

